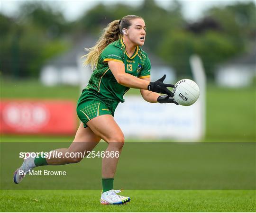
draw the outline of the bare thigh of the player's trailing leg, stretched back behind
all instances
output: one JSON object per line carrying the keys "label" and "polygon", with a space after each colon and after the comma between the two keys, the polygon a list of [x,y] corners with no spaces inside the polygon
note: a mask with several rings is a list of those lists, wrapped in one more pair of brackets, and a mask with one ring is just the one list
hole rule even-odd
{"label": "bare thigh of the player's trailing leg, stretched back behind", "polygon": [[83,127],[81,123],[75,134],[73,143],[69,147],[70,152],[91,151],[100,142],[101,138],[91,131],[90,127]]}

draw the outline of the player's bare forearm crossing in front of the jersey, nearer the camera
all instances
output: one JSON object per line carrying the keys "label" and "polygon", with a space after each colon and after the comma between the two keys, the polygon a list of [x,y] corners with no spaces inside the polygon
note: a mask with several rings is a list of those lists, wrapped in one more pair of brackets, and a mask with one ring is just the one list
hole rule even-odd
{"label": "player's bare forearm crossing in front of the jersey, nearer the camera", "polygon": [[122,73],[117,76],[117,82],[125,87],[135,88],[135,89],[146,89],[149,82],[132,76],[128,73]]}

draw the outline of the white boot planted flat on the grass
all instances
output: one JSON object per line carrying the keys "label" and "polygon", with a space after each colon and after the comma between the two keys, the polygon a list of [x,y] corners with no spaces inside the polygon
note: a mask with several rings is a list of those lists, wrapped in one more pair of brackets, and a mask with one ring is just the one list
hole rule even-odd
{"label": "white boot planted flat on the grass", "polygon": [[103,205],[121,205],[130,202],[129,197],[117,195],[121,190],[113,190],[101,193],[101,204]]}

